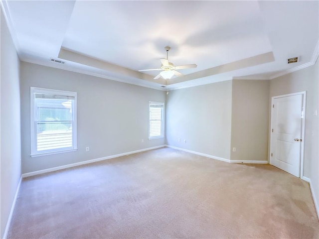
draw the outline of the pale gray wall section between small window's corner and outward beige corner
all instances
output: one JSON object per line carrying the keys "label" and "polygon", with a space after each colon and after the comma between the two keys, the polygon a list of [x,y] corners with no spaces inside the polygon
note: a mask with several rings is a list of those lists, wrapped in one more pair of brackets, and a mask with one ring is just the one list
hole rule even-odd
{"label": "pale gray wall section between small window's corner and outward beige corner", "polygon": [[231,81],[170,91],[167,144],[230,159],[231,99]]}

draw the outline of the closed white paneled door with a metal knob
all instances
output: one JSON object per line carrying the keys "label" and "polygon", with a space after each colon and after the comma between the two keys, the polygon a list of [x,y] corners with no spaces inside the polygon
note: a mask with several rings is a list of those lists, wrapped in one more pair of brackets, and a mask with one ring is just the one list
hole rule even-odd
{"label": "closed white paneled door with a metal knob", "polygon": [[272,98],[270,164],[300,177],[304,95]]}

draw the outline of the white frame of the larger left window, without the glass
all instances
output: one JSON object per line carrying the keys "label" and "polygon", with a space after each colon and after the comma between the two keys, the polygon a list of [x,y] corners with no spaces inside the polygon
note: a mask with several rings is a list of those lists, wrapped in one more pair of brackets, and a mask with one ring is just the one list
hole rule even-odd
{"label": "white frame of the larger left window, without the glass", "polygon": [[[49,95],[59,95],[59,96],[67,96],[74,97],[73,104],[73,114],[72,114],[72,148],[57,148],[57,149],[49,149],[43,152],[38,151],[36,148],[37,145],[37,133],[36,133],[36,104],[35,104],[35,94],[49,94]],[[38,87],[30,87],[30,151],[31,157],[39,157],[57,153],[65,153],[72,152],[77,150],[77,93],[71,91],[62,91],[62,90],[53,90],[47,88],[38,88]]]}

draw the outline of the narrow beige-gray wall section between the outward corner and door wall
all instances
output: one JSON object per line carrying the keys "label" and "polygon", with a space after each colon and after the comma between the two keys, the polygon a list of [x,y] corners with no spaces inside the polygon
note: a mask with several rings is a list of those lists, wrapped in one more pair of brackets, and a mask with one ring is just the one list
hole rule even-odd
{"label": "narrow beige-gray wall section between the outward corner and door wall", "polygon": [[268,160],[269,80],[233,80],[231,160]]}

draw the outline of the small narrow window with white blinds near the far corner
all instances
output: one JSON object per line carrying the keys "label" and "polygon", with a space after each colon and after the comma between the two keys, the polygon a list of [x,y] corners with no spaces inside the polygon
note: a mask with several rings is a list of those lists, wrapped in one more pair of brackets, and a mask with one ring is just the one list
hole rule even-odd
{"label": "small narrow window with white blinds near the far corner", "polygon": [[149,139],[164,137],[164,103],[149,102]]}

